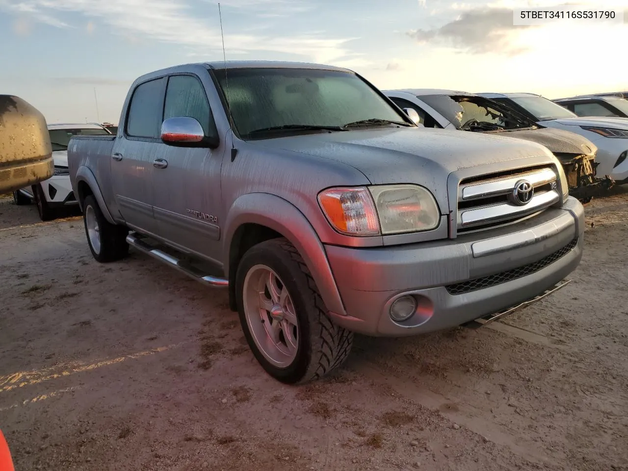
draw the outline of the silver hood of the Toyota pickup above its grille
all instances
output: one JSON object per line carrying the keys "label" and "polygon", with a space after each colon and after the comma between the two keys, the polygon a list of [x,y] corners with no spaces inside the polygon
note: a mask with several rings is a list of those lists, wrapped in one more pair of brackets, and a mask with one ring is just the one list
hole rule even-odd
{"label": "silver hood of the Toyota pickup above its grille", "polygon": [[[518,159],[517,166],[521,166],[521,159],[531,156],[556,163],[547,148],[523,139],[425,127],[309,134],[257,143],[271,149],[342,162],[362,172],[374,185],[422,185],[433,192],[441,205],[448,202],[447,181],[453,171],[495,163],[499,170],[509,170],[515,165],[509,161]],[[323,171],[324,161],[321,163]],[[482,171],[478,169],[477,174]]]}

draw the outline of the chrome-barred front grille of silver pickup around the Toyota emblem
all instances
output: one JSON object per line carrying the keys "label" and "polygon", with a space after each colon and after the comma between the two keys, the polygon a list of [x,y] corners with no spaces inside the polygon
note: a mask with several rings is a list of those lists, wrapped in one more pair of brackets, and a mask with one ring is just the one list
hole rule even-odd
{"label": "chrome-barred front grille of silver pickup around the Toyota emblem", "polygon": [[[516,204],[514,190],[522,181],[533,187],[533,197]],[[458,185],[457,234],[517,222],[560,200],[556,172],[548,165],[467,178]]]}

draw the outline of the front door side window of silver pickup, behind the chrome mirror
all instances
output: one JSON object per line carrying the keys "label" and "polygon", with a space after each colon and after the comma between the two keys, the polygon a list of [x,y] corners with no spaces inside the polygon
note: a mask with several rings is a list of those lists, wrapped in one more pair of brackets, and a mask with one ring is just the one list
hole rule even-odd
{"label": "front door side window of silver pickup, behind the chrome mirror", "polygon": [[213,116],[203,84],[192,75],[173,75],[168,78],[163,119],[193,117],[208,135]]}

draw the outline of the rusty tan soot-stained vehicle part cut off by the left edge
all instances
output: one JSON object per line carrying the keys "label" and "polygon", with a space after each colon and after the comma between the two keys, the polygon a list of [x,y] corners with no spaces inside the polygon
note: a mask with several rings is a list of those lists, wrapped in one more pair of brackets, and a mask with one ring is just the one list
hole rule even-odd
{"label": "rusty tan soot-stained vehicle part cut off by the left edge", "polygon": [[46,120],[19,97],[0,95],[0,193],[28,187],[53,175]]}

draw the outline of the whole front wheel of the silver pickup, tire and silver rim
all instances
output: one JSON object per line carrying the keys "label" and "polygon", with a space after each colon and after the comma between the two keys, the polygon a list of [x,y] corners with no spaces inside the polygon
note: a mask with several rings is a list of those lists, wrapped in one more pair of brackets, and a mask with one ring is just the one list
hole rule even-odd
{"label": "whole front wheel of the silver pickup, tire and silver rim", "polygon": [[318,379],[349,356],[353,333],[332,322],[303,258],[286,239],[244,254],[236,296],[249,347],[279,381]]}

